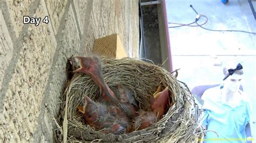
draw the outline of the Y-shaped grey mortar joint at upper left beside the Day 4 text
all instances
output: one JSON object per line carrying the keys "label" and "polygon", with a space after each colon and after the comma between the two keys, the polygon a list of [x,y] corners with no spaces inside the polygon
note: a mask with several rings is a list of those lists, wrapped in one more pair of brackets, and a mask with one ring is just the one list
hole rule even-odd
{"label": "Y-shaped grey mortar joint at upper left beside the Day 4 text", "polygon": [[[35,13],[36,8],[38,7],[39,3],[40,3],[40,0],[37,0],[31,4],[30,9],[29,9],[30,17],[33,17],[33,14]],[[6,26],[8,28],[8,32],[10,33],[10,36],[11,36],[13,49],[12,49],[12,57],[11,57],[10,63],[4,71],[2,88],[0,90],[0,113],[3,112],[4,98],[6,96],[6,91],[8,90],[9,83],[11,81],[12,75],[14,74],[14,69],[17,65],[18,59],[21,56],[21,49],[23,47],[22,42],[24,41],[25,37],[26,38],[29,37],[28,30],[29,30],[29,26],[30,26],[29,24],[23,25],[22,31],[20,31],[20,33],[19,33],[19,37],[16,38],[15,34],[13,33],[14,25],[12,25],[9,20],[10,14],[8,14],[9,13],[9,10],[7,9],[8,6],[7,6],[6,2],[2,2],[1,4],[2,4],[2,10],[3,10],[2,13],[3,13],[4,20],[5,20],[5,22],[6,21],[8,22],[8,24],[6,24]]]}

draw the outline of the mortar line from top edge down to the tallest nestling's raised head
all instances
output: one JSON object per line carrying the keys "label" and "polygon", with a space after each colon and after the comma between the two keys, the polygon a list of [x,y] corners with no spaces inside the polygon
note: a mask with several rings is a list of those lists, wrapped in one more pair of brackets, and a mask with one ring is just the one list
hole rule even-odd
{"label": "mortar line from top edge down to the tallest nestling's raised head", "polygon": [[84,28],[83,28],[83,35],[81,37],[81,42],[80,42],[80,49],[79,49],[79,53],[84,53],[84,45],[86,42],[86,34],[87,34],[87,30],[89,27],[89,23],[90,23],[90,16],[91,16],[91,11],[92,11],[92,5],[93,4],[93,0],[90,0],[87,2],[86,4],[86,12],[85,12],[85,23],[84,23]]}

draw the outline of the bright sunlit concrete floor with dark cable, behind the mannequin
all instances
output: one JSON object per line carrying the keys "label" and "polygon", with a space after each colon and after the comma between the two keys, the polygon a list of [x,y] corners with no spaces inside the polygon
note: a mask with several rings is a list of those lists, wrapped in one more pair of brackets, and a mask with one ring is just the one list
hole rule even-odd
{"label": "bright sunlit concrete floor with dark cable, behind the mannequin", "polygon": [[[256,1],[252,3],[256,9]],[[169,23],[194,22],[196,13],[190,4],[199,14],[208,17],[204,27],[256,32],[256,20],[247,0],[230,0],[227,4],[220,0],[166,0]],[[204,19],[200,18],[198,23],[204,23]],[[188,26],[169,28],[169,34],[173,69],[180,68],[178,79],[190,89],[197,85],[222,83],[223,67],[241,63],[244,67],[242,86],[252,103],[251,128],[256,137],[256,34],[212,32]]]}

